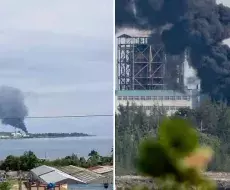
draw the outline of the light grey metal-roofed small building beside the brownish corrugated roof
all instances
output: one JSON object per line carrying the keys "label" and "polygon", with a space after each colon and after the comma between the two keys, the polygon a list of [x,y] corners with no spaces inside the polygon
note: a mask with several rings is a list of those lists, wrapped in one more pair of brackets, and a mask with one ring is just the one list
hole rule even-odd
{"label": "light grey metal-roofed small building beside the brownish corrugated roof", "polygon": [[81,179],[46,165],[32,169],[29,173],[29,177],[32,182],[41,184],[84,184]]}

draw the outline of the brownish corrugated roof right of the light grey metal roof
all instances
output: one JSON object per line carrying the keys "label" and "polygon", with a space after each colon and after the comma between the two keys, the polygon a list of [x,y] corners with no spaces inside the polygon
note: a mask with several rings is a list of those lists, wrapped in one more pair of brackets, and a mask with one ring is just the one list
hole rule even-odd
{"label": "brownish corrugated roof right of the light grey metal roof", "polygon": [[65,166],[65,167],[58,167],[61,171],[68,173],[71,176],[74,176],[85,183],[90,183],[99,178],[104,178],[104,176],[97,174],[95,172],[89,171],[84,168],[76,167],[76,166]]}

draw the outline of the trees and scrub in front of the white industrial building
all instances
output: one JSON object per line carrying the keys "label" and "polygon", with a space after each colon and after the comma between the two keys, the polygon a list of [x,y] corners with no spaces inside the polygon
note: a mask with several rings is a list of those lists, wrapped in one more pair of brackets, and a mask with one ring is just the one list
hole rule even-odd
{"label": "trees and scrub in front of the white industrial building", "polygon": [[[164,110],[153,109],[147,115],[142,107],[135,105],[120,106],[118,109],[115,129],[116,175],[139,174],[136,162],[139,144],[149,136],[156,137],[160,123],[167,117]],[[227,104],[207,100],[196,110],[180,109],[170,118],[173,117],[190,121],[199,132],[199,142],[214,150],[208,170],[230,171],[230,107]]]}

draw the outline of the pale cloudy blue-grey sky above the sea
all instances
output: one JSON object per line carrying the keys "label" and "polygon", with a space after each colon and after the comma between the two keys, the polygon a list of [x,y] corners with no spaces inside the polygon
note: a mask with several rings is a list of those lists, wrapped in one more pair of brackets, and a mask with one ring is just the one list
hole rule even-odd
{"label": "pale cloudy blue-grey sky above the sea", "polygon": [[[112,0],[0,1],[0,85],[25,93],[30,116],[112,114],[112,5]],[[113,131],[112,117],[26,123],[29,132]]]}

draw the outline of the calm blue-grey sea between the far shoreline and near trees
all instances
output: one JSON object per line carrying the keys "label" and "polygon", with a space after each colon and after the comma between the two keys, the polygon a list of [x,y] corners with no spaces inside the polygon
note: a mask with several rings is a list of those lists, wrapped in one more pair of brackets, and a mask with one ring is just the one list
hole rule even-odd
{"label": "calm blue-grey sea between the far shoreline and near trees", "polygon": [[110,155],[112,137],[71,137],[54,139],[0,139],[0,160],[8,155],[22,155],[33,151],[39,158],[56,159],[72,153],[87,157],[91,150],[102,156]]}

